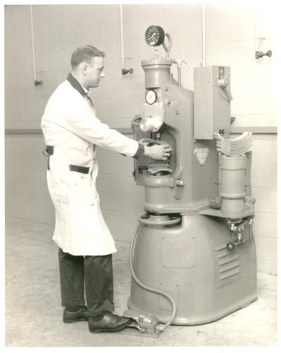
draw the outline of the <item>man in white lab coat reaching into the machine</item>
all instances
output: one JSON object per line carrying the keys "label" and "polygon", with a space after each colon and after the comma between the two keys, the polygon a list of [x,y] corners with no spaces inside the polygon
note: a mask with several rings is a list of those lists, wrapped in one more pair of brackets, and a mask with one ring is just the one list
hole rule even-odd
{"label": "man in white lab coat reaching into the machine", "polygon": [[93,46],[74,51],[72,73],[51,95],[41,121],[55,206],[53,240],[59,246],[63,321],[89,320],[92,333],[120,331],[131,322],[112,314],[112,253],[117,250],[100,211],[95,146],[133,158],[144,154],[167,160],[171,152],[169,145],[148,147],[126,138],[96,117],[89,89],[105,77],[104,56]]}

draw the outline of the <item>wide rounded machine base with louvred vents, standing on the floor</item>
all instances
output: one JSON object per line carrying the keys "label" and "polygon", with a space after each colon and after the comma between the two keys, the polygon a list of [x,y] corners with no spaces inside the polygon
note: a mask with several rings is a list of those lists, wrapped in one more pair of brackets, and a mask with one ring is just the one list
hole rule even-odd
{"label": "wide rounded machine base with louvred vents, standing on the floor", "polygon": [[[242,237],[247,239],[249,225]],[[230,230],[222,218],[183,215],[170,226],[140,225],[133,258],[136,277],[176,302],[172,324],[216,321],[257,299],[256,250],[249,244],[229,251]],[[159,322],[171,317],[171,303],[132,279],[128,307],[150,312]]]}

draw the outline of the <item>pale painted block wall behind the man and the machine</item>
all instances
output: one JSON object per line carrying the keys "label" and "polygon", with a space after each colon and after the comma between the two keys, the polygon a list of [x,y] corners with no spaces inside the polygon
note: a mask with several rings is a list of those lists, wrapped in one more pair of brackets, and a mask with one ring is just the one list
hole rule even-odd
{"label": "pale painted block wall behind the man and the machine", "polygon": [[[186,5],[123,5],[125,67],[121,74],[119,5],[49,5],[5,7],[6,129],[39,128],[44,107],[55,87],[70,71],[70,55],[82,44],[105,51],[105,74],[92,90],[98,116],[112,128],[129,128],[141,113],[144,75],[141,60],[153,49],[144,41],[148,25],[164,27],[173,39],[171,55],[181,58],[183,86],[193,88],[193,67],[202,62],[202,7]],[[36,75],[34,86],[31,9]],[[276,126],[275,11],[245,6],[206,6],[207,65],[230,65],[234,126]],[[270,11],[269,11],[270,10]],[[257,17],[256,15],[259,14]],[[273,57],[254,58],[256,19],[260,50]],[[18,30],[20,28],[20,31]],[[19,55],[20,53],[20,55]],[[164,55],[159,48],[160,55]],[[176,74],[176,69],[174,74]],[[15,100],[16,97],[16,100]],[[6,218],[28,218],[53,224],[54,213],[46,189],[46,159],[42,135],[6,135]],[[98,148],[103,213],[115,239],[130,241],[143,212],[143,188],[131,171],[133,160]],[[277,272],[277,136],[253,137],[252,186],[256,197],[254,232],[258,269]],[[43,234],[44,235],[44,234]]]}

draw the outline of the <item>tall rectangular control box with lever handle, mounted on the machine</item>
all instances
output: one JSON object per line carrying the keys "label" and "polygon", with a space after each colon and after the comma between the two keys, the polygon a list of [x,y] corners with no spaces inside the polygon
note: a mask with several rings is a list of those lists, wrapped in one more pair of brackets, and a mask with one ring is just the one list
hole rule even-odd
{"label": "tall rectangular control box with lever handle, mounted on the machine", "polygon": [[230,130],[230,100],[230,67],[195,67],[195,140],[213,140],[214,133]]}

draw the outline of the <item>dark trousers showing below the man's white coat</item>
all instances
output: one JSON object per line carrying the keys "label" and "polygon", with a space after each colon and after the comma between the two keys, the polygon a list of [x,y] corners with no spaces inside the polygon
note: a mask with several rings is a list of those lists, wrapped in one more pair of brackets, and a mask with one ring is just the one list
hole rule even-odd
{"label": "dark trousers showing below the man's white coat", "polygon": [[63,307],[84,305],[84,283],[90,316],[113,312],[112,255],[74,256],[58,250]]}

